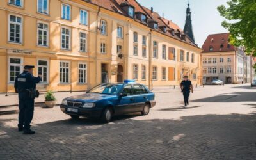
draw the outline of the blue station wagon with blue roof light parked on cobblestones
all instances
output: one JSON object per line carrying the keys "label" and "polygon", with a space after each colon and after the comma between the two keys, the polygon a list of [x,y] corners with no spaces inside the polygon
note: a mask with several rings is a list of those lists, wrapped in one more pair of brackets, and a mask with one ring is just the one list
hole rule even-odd
{"label": "blue station wagon with blue roof light parked on cobblestones", "polygon": [[86,116],[110,122],[115,115],[136,112],[148,115],[150,108],[155,105],[155,94],[146,86],[124,81],[99,84],[83,95],[67,97],[60,108],[74,119]]}

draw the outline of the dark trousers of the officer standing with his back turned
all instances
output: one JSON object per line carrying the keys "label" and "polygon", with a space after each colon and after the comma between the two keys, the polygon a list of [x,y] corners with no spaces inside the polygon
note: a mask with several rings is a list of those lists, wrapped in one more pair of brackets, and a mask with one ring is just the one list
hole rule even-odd
{"label": "dark trousers of the officer standing with his back turned", "polygon": [[30,123],[34,115],[34,99],[19,99],[19,126],[30,129]]}

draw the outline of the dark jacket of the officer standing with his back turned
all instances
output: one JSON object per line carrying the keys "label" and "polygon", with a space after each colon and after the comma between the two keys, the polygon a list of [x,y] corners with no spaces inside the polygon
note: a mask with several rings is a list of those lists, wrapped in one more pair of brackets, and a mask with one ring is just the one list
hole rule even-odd
{"label": "dark jacket of the officer standing with his back turned", "polygon": [[24,92],[26,90],[36,89],[36,83],[40,82],[40,77],[34,77],[28,71],[24,71],[22,74],[15,78],[14,87],[16,92]]}

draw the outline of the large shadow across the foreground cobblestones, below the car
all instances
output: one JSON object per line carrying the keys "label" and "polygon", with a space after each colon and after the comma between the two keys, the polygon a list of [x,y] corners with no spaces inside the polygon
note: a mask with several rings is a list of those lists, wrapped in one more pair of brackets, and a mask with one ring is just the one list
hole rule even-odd
{"label": "large shadow across the foreground cobblestones, below the car", "polygon": [[0,159],[256,159],[256,113],[132,116],[109,124],[86,118],[37,124],[34,135],[0,120]]}

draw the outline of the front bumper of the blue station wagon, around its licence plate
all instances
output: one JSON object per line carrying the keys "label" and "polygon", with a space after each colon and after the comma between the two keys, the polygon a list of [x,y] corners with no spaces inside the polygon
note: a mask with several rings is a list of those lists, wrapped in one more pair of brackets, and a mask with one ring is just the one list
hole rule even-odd
{"label": "front bumper of the blue station wagon, around its licence plate", "polygon": [[63,104],[60,105],[61,111],[67,115],[77,115],[77,116],[86,116],[88,118],[100,118],[102,114],[102,108],[72,108],[78,109],[77,112],[67,111],[67,108],[72,108],[65,106]]}

